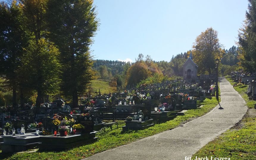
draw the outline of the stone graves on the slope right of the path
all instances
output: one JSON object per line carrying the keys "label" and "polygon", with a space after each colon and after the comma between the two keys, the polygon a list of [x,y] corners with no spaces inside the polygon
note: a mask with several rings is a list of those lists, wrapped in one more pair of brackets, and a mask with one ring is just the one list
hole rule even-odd
{"label": "stone graves on the slope right of the path", "polygon": [[[249,100],[256,100],[256,76],[255,74],[248,74],[248,73],[242,73],[242,72],[231,72],[231,79],[238,83],[242,83],[244,85],[248,85],[247,88],[247,95],[249,97]],[[256,109],[256,104],[255,104]]]}

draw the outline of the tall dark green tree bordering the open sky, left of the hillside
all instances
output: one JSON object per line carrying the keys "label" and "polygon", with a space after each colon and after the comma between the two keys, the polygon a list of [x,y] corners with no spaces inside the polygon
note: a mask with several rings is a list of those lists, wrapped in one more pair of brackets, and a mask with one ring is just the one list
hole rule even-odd
{"label": "tall dark green tree bordering the open sky, left of the hillside", "polygon": [[95,9],[92,0],[49,0],[48,36],[60,50],[61,90],[73,107],[95,75],[89,51],[99,25]]}

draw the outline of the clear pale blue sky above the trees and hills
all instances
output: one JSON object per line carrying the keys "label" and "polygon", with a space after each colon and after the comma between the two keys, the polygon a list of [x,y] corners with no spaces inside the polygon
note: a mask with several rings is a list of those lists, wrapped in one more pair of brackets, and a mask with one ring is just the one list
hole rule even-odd
{"label": "clear pale blue sky above the trees and hills", "polygon": [[246,0],[94,0],[101,25],[91,46],[94,59],[132,62],[139,53],[153,60],[192,48],[202,31],[212,27],[225,49],[235,45]]}

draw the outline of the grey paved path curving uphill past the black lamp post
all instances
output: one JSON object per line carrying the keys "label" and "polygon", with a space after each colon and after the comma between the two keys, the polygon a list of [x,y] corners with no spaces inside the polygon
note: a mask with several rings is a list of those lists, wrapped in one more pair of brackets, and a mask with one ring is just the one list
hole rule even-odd
{"label": "grey paved path curving uphill past the black lamp post", "polygon": [[220,78],[220,88],[220,105],[224,109],[218,109],[219,105],[217,105],[204,116],[183,124],[183,127],[97,153],[87,159],[178,160],[193,155],[208,142],[239,122],[247,111],[245,101],[226,79]]}

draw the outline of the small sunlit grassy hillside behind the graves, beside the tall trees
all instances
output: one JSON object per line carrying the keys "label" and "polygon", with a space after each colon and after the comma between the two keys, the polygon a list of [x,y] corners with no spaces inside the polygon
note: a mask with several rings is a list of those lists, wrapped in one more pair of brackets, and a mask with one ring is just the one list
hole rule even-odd
{"label": "small sunlit grassy hillside behind the graves, beside the tall trees", "polygon": [[104,93],[109,93],[109,92],[116,92],[116,88],[115,87],[110,87],[109,86],[109,82],[108,81],[101,81],[101,80],[93,80],[91,81],[91,95],[95,96],[96,94],[94,93],[97,89],[97,92],[100,92],[102,94]]}

